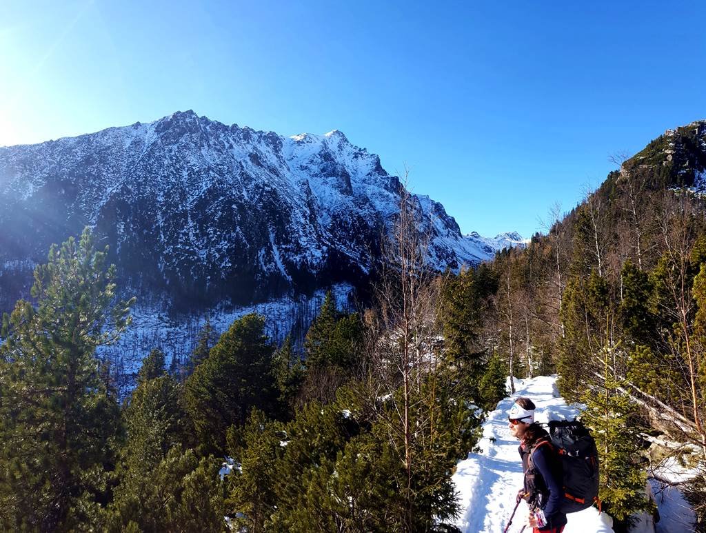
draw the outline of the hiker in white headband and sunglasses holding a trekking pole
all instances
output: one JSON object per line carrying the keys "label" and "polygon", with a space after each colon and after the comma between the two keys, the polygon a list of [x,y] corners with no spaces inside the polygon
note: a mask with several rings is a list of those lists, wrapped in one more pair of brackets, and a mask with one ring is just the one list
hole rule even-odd
{"label": "hiker in white headband and sunglasses holding a trekking pole", "polygon": [[[566,514],[561,511],[563,479],[561,461],[542,426],[534,422],[534,402],[527,397],[515,400],[508,411],[510,433],[520,440],[525,486],[517,493],[530,505],[527,525],[533,533],[561,533]],[[530,455],[532,460],[530,461]]]}

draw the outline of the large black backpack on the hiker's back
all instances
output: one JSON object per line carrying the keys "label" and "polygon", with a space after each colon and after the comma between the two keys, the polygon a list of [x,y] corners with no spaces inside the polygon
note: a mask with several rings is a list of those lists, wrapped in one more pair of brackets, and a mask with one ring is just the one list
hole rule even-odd
{"label": "large black backpack on the hiker's back", "polygon": [[[551,448],[561,458],[564,498],[562,513],[576,513],[598,500],[598,450],[590,431],[580,421],[549,421]],[[540,445],[542,443],[539,443]],[[534,467],[532,454],[530,466]]]}

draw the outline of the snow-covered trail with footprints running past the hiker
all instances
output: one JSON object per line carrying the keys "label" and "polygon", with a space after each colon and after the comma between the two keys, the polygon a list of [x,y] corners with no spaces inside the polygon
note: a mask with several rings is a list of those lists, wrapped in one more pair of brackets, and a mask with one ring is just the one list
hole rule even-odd
{"label": "snow-covered trail with footprints running past the hiker", "polygon": [[[515,378],[515,394],[505,398],[483,424],[479,453],[469,453],[458,463],[453,482],[460,495],[462,511],[456,526],[465,533],[502,533],[515,507],[515,496],[522,489],[522,465],[517,439],[510,436],[508,409],[515,398],[527,396],[537,405],[538,422],[573,419],[578,409],[566,405],[556,389],[556,376],[533,379]],[[522,502],[508,533],[519,532],[527,520],[527,504]],[[611,518],[589,508],[568,515],[564,533],[609,533]],[[531,529],[525,528],[529,533]]]}

